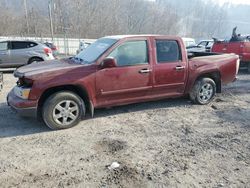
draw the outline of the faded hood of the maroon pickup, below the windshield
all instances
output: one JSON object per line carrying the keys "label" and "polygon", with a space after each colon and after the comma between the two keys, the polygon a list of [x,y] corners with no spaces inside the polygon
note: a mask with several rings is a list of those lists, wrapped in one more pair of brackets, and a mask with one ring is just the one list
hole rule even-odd
{"label": "faded hood of the maroon pickup, below the windshield", "polygon": [[18,78],[37,78],[41,75],[55,76],[83,66],[86,65],[74,63],[74,61],[70,59],[44,61],[20,67],[14,72],[14,76]]}

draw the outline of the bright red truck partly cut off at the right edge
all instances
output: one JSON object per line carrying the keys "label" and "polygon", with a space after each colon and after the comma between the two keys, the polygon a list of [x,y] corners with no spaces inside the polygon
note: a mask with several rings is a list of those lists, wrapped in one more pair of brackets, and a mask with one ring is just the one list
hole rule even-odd
{"label": "bright red truck partly cut off at the right edge", "polygon": [[250,73],[250,36],[241,37],[239,40],[216,41],[212,52],[235,53],[240,57],[240,65],[247,67]]}

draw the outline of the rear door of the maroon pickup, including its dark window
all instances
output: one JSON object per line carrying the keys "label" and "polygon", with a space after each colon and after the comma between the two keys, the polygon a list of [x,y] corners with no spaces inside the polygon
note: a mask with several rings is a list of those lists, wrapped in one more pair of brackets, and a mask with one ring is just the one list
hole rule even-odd
{"label": "rear door of the maroon pickup, including its dark window", "polygon": [[154,94],[182,95],[187,77],[187,62],[177,40],[155,40]]}

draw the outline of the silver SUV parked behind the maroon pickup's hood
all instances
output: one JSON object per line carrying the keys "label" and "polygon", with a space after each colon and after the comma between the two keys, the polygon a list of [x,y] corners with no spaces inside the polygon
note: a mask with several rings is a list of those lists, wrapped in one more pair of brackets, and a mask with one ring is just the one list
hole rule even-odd
{"label": "silver SUV parked behind the maroon pickup's hood", "polygon": [[0,41],[0,68],[20,67],[52,59],[52,50],[44,44],[35,41]]}

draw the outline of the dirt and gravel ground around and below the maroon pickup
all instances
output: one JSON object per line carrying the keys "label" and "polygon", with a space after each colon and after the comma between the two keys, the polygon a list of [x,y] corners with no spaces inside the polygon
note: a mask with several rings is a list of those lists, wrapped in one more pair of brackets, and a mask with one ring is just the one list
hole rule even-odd
{"label": "dirt and gravel ground around and below the maroon pickup", "polygon": [[[250,75],[207,106],[171,99],[97,110],[62,131],[0,92],[0,187],[250,187]],[[109,170],[112,162],[120,167]]]}

